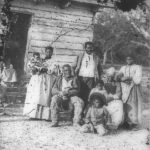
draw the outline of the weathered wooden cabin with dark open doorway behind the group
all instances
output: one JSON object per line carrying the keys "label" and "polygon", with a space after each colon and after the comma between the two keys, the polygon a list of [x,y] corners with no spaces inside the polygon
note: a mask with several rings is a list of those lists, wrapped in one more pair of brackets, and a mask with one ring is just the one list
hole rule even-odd
{"label": "weathered wooden cabin with dark open doorway behind the group", "polygon": [[61,8],[58,0],[45,0],[38,4],[34,0],[12,1],[11,9],[17,18],[11,27],[6,53],[15,68],[26,71],[33,52],[44,56],[45,47],[49,45],[54,47],[54,55],[60,65],[73,65],[77,55],[83,51],[84,43],[93,38],[92,20],[96,7],[97,0],[72,0],[66,8]]}

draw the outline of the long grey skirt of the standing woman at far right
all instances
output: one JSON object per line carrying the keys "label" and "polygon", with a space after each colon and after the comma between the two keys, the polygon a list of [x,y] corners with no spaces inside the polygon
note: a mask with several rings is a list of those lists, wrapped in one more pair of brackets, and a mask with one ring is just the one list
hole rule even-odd
{"label": "long grey skirt of the standing woman at far right", "polygon": [[141,124],[142,122],[142,90],[140,85],[132,87],[128,100],[125,103],[125,120],[129,124]]}

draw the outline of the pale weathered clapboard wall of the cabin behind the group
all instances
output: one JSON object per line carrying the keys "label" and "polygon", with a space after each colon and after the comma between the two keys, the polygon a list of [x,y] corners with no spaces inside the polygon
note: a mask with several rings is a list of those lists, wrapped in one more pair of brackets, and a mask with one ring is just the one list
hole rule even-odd
{"label": "pale weathered clapboard wall of the cabin behind the group", "polygon": [[33,52],[44,56],[45,47],[52,45],[59,64],[73,65],[83,44],[93,38],[93,13],[86,3],[75,2],[60,9],[52,1],[36,5],[29,0],[15,0],[12,6],[15,12],[31,14],[25,64]]}

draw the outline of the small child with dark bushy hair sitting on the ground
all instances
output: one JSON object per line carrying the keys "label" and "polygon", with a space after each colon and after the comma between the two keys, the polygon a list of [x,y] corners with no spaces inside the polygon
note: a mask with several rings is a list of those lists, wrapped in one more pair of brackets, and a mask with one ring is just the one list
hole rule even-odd
{"label": "small child with dark bushy hair sitting on the ground", "polygon": [[92,106],[89,107],[85,124],[81,128],[81,132],[84,133],[98,133],[103,136],[107,133],[105,128],[105,120],[107,111],[104,109],[104,99],[101,95],[95,94],[91,97]]}

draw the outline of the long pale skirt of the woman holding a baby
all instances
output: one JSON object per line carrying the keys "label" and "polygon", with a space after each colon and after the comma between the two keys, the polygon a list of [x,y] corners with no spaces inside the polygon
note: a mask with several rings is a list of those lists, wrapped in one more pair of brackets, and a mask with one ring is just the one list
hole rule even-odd
{"label": "long pale skirt of the woman holding a baby", "polygon": [[27,87],[23,114],[29,118],[50,120],[50,102],[53,77],[33,75]]}

